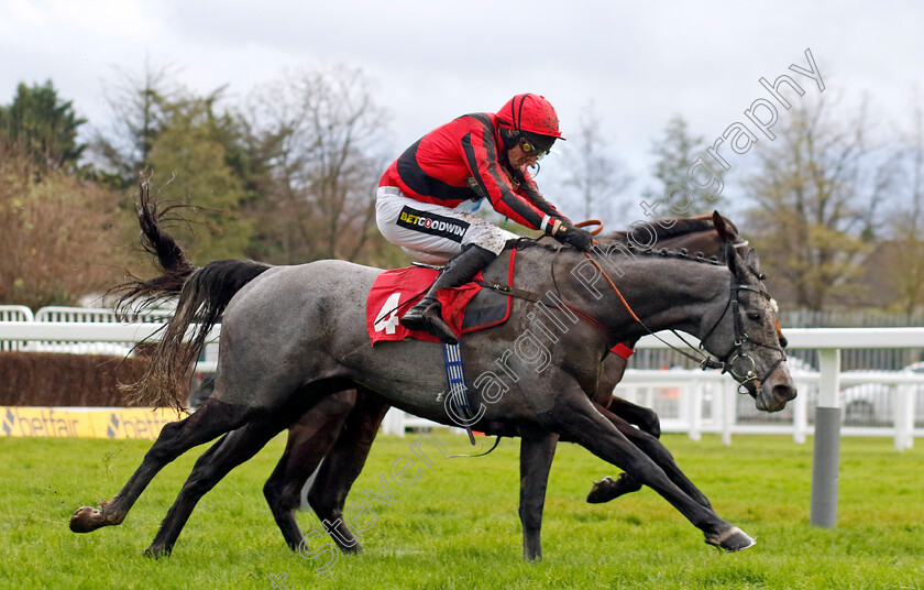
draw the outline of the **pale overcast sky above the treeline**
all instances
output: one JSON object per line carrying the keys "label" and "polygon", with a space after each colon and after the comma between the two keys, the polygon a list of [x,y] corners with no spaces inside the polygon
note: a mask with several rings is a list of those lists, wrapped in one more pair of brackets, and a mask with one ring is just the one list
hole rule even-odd
{"label": "pale overcast sky above the treeline", "polygon": [[376,81],[395,155],[431,128],[522,91],[544,95],[568,136],[593,100],[640,190],[651,141],[672,114],[711,142],[766,97],[761,76],[806,67],[806,48],[826,94],[858,101],[869,92],[875,120],[903,125],[911,88],[924,89],[922,30],[920,0],[0,0],[0,102],[20,81],[51,78],[102,124],[103,83],[117,67],[140,74],[145,58],[179,66],[195,90],[228,84],[232,98],[287,66],[345,63]]}

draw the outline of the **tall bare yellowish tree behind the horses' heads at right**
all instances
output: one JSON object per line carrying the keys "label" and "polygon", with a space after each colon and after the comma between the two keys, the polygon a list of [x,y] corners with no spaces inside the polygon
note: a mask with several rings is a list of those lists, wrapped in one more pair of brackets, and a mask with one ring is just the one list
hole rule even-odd
{"label": "tall bare yellowish tree behind the horses' heads at right", "polygon": [[865,105],[854,120],[833,107],[823,98],[794,108],[745,183],[755,200],[749,233],[767,274],[795,305],[815,310],[860,273],[889,181],[870,157]]}

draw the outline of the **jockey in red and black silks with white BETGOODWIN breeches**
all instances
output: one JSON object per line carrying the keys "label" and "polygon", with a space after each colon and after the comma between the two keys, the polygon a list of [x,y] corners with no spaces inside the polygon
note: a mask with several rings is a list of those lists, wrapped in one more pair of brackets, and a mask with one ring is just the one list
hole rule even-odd
{"label": "jockey in red and black silks with white BETGOODWIN breeches", "polygon": [[440,316],[437,291],[468,283],[519,238],[473,215],[485,198],[517,223],[591,249],[590,232],[542,198],[527,171],[557,139],[564,140],[549,101],[517,95],[497,113],[465,114],[435,129],[388,166],[376,192],[378,229],[416,261],[446,263],[402,326],[459,341]]}

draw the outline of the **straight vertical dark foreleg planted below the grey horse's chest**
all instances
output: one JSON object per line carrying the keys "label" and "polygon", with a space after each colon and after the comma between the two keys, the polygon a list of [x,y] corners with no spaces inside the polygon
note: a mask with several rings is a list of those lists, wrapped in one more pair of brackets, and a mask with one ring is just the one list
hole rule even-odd
{"label": "straight vertical dark foreleg planted below the grey horse's chest", "polygon": [[558,438],[557,434],[546,430],[522,434],[519,516],[522,523],[522,557],[527,561],[542,559],[542,509]]}

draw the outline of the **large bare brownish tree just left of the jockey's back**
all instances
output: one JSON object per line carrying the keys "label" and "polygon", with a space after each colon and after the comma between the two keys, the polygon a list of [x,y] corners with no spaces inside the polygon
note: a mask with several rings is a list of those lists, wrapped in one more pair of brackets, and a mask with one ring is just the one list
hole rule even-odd
{"label": "large bare brownish tree just left of the jockey's back", "polygon": [[354,260],[375,232],[385,112],[362,70],[304,68],[251,98],[251,145],[267,170],[253,204],[262,258]]}

